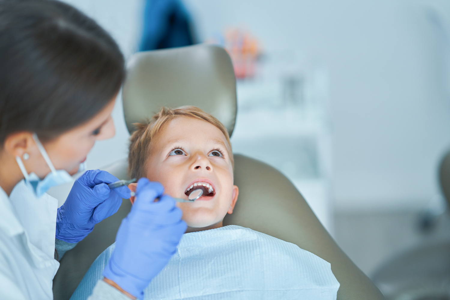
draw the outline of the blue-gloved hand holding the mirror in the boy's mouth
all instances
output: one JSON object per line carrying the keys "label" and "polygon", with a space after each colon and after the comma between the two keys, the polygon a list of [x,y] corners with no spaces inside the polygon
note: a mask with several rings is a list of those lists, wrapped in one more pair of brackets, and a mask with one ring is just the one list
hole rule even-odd
{"label": "blue-gloved hand holding the mirror in the boy's mouth", "polygon": [[[144,288],[167,264],[186,231],[182,211],[163,195],[160,183],[138,181],[136,200],[117,231],[116,247],[103,276],[142,299]],[[154,202],[160,197],[158,202]]]}

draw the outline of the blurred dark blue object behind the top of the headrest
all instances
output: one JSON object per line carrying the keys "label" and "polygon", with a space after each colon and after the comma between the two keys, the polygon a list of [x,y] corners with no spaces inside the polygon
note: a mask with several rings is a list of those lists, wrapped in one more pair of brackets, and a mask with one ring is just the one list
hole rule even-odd
{"label": "blurred dark blue object behind the top of the headrest", "polygon": [[193,44],[191,18],[180,0],[147,0],[140,51]]}

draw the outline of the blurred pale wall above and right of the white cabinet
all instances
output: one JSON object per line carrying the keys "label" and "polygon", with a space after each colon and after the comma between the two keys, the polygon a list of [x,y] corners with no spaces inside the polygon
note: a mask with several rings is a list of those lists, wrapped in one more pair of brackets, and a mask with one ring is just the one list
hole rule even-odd
{"label": "blurred pale wall above and right of the white cabinet", "polygon": [[450,99],[430,1],[188,3],[203,37],[244,25],[268,54],[297,49],[328,66],[336,209],[419,207],[438,193]]}

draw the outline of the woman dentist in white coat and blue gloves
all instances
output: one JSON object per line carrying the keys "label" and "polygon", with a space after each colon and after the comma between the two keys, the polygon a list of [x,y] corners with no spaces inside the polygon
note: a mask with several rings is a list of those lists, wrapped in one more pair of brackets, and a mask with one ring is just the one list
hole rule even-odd
{"label": "woman dentist in white coat and blue gloves", "polygon": [[[45,193],[114,136],[124,76],[117,44],[83,13],[55,0],[0,0],[0,299],[53,299],[58,258],[130,197],[100,170],[81,175],[60,208]],[[163,192],[139,179],[89,299],[142,298],[175,253],[186,224]]]}

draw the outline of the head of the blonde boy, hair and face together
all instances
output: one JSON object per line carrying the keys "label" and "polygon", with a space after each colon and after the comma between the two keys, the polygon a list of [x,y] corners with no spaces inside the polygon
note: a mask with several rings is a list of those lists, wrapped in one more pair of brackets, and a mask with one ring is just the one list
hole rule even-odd
{"label": "head of the blonde boy, hair and face together", "polygon": [[[238,199],[225,127],[197,107],[163,109],[154,119],[138,124],[130,138],[131,178],[158,181],[166,194],[184,199],[202,188],[198,200],[178,204],[189,226],[187,232],[222,227],[222,219],[233,212]],[[136,184],[129,188],[135,191]]]}

